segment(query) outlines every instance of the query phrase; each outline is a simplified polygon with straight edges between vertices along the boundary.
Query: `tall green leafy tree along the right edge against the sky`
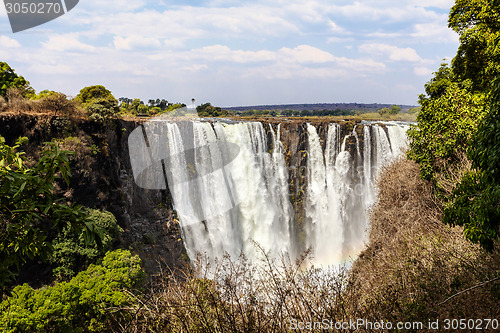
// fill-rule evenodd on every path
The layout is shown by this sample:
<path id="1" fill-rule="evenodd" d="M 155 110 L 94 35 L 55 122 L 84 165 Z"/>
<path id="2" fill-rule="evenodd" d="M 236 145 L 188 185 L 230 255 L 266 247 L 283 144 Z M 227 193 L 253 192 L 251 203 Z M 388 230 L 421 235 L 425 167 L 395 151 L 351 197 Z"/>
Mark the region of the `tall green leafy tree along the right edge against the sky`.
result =
<path id="1" fill-rule="evenodd" d="M 419 97 L 408 156 L 446 200 L 443 221 L 491 250 L 500 236 L 500 1 L 457 0 L 460 36 Z"/>

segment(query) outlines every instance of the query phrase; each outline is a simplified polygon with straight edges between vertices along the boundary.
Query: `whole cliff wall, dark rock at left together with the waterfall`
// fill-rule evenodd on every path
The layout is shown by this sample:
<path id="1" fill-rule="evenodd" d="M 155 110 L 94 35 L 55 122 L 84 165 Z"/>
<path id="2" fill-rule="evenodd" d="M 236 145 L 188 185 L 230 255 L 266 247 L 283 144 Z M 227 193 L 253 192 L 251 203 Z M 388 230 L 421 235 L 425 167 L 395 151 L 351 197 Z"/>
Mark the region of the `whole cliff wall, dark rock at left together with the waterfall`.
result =
<path id="1" fill-rule="evenodd" d="M 366 240 L 375 179 L 401 154 L 408 129 L 408 123 L 327 118 L 136 119 L 109 126 L 4 116 L 0 124 L 10 144 L 20 136 L 34 149 L 45 141 L 74 142 L 66 148 L 76 150 L 72 199 L 112 212 L 125 230 L 120 246 L 136 251 L 149 273 L 159 263 L 182 265 L 197 252 L 253 259 L 253 241 L 273 257 L 293 258 L 312 247 L 317 265 L 354 259 Z M 151 157 L 164 157 L 142 176 L 134 170 L 134 149 L 148 150 L 129 145 L 137 130 L 156 149 Z M 141 177 L 154 170 L 160 183 L 145 184 L 151 177 Z"/>

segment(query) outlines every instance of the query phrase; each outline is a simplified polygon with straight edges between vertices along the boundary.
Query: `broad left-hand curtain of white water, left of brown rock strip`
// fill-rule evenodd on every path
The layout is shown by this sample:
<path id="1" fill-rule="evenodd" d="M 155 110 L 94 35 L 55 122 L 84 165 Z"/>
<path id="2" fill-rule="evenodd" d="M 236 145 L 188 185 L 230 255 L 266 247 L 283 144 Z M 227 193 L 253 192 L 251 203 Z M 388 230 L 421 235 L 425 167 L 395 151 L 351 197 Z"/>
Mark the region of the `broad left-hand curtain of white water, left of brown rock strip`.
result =
<path id="1" fill-rule="evenodd" d="M 188 255 L 195 258 L 197 253 L 203 253 L 213 259 L 227 252 L 233 259 L 241 253 L 253 259 L 256 248 L 252 241 L 274 256 L 290 253 L 292 208 L 281 142 L 273 136 L 270 154 L 261 123 L 192 125 L 194 148 L 209 148 L 195 149 L 192 165 L 182 157 L 169 165 L 177 179 L 188 179 L 182 173 L 188 173 L 190 168 L 203 175 L 189 182 L 176 182 L 171 189 Z M 183 138 L 176 123 L 166 126 L 171 153 L 181 152 L 183 140 L 189 138 Z M 239 154 L 220 168 L 227 153 L 220 143 L 225 141 L 236 144 Z"/>

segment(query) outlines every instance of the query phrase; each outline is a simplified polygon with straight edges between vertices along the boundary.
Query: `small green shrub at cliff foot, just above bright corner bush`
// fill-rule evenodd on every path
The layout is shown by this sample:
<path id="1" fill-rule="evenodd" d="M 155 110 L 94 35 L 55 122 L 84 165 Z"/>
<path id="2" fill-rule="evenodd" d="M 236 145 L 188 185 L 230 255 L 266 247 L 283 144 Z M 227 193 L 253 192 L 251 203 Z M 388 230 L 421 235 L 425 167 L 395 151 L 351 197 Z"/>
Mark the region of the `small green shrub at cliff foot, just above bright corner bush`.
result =
<path id="1" fill-rule="evenodd" d="M 59 279 L 72 277 L 104 253 L 111 250 L 113 241 L 123 232 L 116 218 L 108 211 L 86 209 L 87 220 L 101 232 L 102 244 L 86 243 L 83 235 L 75 235 L 70 228 L 65 228 L 52 242 L 53 251 L 49 261 L 56 264 L 54 275 Z"/>

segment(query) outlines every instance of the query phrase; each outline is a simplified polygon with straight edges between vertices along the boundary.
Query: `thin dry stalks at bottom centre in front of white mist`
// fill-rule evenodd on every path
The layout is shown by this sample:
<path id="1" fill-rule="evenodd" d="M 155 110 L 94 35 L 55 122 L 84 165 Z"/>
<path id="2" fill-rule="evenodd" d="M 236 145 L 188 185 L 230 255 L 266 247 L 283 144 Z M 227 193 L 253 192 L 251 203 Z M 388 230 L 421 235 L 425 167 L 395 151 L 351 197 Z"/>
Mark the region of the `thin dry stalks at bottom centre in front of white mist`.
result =
<path id="1" fill-rule="evenodd" d="M 135 320 L 123 329 L 290 332 L 293 321 L 346 320 L 346 272 L 303 271 L 307 258 L 273 261 L 262 251 L 256 264 L 224 258 L 212 267 L 199 259 L 194 270 L 163 274 L 150 296 L 139 298 Z"/>

